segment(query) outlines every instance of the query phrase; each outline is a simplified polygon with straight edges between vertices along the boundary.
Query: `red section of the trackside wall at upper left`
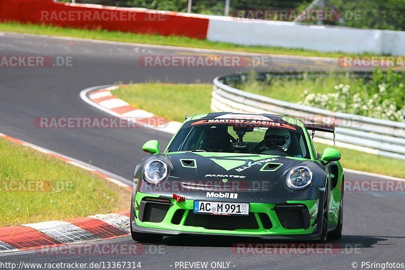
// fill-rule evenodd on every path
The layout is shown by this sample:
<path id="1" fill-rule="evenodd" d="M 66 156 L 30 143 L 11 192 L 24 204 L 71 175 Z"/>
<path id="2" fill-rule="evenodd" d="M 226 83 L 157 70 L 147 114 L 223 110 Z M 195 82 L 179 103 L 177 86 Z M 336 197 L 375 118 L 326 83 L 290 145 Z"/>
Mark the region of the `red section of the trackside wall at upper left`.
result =
<path id="1" fill-rule="evenodd" d="M 52 0 L 0 0 L 0 20 L 199 39 L 207 37 L 209 21 L 177 12 L 55 3 Z"/>

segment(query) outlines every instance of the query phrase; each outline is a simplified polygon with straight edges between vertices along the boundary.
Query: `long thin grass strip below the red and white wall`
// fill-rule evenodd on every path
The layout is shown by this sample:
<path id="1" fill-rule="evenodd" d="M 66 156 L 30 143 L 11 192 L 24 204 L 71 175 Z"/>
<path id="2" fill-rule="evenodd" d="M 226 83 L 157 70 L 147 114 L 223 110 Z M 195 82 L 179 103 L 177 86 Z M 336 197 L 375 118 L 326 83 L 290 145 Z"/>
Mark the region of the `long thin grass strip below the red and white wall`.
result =
<path id="1" fill-rule="evenodd" d="M 80 38 L 91 38 L 94 40 L 168 45 L 178 47 L 190 47 L 200 49 L 227 50 L 236 52 L 265 53 L 265 54 L 284 54 L 300 56 L 323 56 L 340 57 L 343 53 L 325 53 L 316 51 L 307 51 L 302 49 L 286 49 L 265 46 L 239 46 L 229 43 L 210 42 L 207 40 L 197 40 L 184 36 L 161 36 L 150 34 L 136 34 L 118 31 L 106 31 L 101 29 L 73 29 L 39 24 L 21 24 L 16 22 L 1 22 L 0 31 L 11 31 L 30 34 L 45 34 L 71 36 Z"/>

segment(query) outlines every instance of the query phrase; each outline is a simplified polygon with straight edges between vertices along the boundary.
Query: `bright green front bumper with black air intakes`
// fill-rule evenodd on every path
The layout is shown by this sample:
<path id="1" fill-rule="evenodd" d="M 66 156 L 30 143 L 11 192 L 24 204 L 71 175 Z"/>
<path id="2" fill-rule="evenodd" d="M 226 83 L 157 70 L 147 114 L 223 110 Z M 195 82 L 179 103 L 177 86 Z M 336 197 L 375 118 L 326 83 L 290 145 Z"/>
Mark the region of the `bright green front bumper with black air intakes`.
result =
<path id="1" fill-rule="evenodd" d="M 193 200 L 177 203 L 171 198 L 138 191 L 131 209 L 131 225 L 134 233 L 167 236 L 193 234 L 312 240 L 320 236 L 319 202 L 321 200 L 316 199 L 285 204 L 250 203 L 249 217 L 207 216 L 193 214 Z M 151 211 L 154 212 L 151 214 Z"/>

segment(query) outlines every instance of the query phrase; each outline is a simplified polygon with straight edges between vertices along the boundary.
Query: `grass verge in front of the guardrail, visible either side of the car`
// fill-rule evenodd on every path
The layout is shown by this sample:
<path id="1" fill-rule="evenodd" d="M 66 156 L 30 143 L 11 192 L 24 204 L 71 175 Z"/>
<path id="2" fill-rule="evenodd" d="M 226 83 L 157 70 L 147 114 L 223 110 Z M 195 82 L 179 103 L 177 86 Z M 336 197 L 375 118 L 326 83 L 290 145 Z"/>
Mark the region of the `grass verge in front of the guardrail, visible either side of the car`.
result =
<path id="1" fill-rule="evenodd" d="M 176 85 L 146 83 L 121 87 L 113 94 L 135 107 L 154 114 L 183 122 L 184 115 L 210 112 L 211 85 Z M 151 98 L 153 97 L 153 98 Z M 315 143 L 322 152 L 330 145 Z M 335 147 L 342 153 L 342 165 L 347 169 L 384 174 L 405 178 L 403 161 L 363 153 L 356 150 Z"/>

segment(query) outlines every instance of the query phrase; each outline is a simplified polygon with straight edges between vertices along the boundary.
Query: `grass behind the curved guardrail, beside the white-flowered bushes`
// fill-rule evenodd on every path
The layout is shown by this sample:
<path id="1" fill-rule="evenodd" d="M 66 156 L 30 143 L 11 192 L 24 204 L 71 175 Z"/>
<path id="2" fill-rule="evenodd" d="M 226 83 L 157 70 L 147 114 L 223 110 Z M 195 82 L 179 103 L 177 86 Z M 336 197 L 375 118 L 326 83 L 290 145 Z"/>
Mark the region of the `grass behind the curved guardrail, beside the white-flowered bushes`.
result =
<path id="1" fill-rule="evenodd" d="M 246 92 L 297 103 L 302 101 L 304 91 L 311 93 L 334 93 L 335 86 L 339 84 L 357 85 L 358 79 L 347 78 L 346 76 L 320 76 L 313 79 L 287 80 L 274 78 L 270 84 L 250 80 L 246 84 L 238 85 L 236 88 Z"/>

